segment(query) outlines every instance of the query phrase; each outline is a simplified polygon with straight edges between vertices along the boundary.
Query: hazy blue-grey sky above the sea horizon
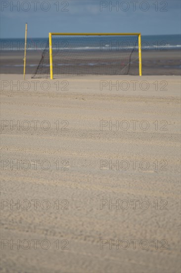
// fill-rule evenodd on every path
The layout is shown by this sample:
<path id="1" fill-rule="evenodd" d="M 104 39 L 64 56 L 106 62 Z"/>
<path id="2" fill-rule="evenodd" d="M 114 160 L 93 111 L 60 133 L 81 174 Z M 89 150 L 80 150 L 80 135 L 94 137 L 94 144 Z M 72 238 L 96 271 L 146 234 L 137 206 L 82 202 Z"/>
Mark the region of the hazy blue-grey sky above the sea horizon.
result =
<path id="1" fill-rule="evenodd" d="M 0 38 L 49 32 L 181 33 L 180 0 L 0 0 Z"/>

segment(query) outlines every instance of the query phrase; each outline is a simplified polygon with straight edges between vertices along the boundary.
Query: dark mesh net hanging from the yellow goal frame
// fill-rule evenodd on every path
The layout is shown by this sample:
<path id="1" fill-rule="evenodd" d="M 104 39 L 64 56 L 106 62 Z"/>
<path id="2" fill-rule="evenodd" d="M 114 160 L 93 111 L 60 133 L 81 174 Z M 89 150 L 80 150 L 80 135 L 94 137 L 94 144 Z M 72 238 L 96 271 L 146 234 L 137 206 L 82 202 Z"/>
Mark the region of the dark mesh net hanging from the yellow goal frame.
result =
<path id="1" fill-rule="evenodd" d="M 32 78 L 61 75 L 141 75 L 140 34 L 50 33 Z"/>

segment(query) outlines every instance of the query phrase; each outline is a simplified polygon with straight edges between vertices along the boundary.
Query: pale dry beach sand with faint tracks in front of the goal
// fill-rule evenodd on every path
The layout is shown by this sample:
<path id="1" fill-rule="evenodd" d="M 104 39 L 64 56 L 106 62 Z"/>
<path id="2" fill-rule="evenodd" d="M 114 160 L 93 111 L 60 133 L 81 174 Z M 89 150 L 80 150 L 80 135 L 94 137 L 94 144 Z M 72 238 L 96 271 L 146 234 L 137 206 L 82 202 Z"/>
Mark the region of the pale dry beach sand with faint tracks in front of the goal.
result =
<path id="1" fill-rule="evenodd" d="M 6 125 L 1 128 L 1 163 L 8 164 L 1 165 L 1 240 L 6 240 L 1 241 L 1 272 L 179 273 L 180 77 L 64 76 L 48 81 L 49 90 L 43 90 L 43 79 L 35 90 L 35 80 L 27 78 L 30 88 L 22 75 L 1 75 L 1 84 L 8 85 L 1 87 L 1 122 Z M 100 90 L 100 80 L 123 85 Z M 126 89 L 123 80 L 130 84 L 128 90 L 121 90 Z M 145 91 L 144 84 L 149 86 Z M 68 90 L 60 90 L 65 85 Z M 48 123 L 42 123 L 45 120 Z M 118 121 L 119 128 L 100 130 L 102 120 L 105 125 Z M 18 121 L 19 128 L 10 126 Z M 17 160 L 24 164 L 13 166 Z M 102 170 L 100 160 L 106 164 Z M 124 164 L 130 167 L 109 170 L 109 160 L 127 160 Z M 147 169 L 142 160 L 149 163 Z M 30 169 L 25 170 L 28 163 Z M 37 209 L 32 200 L 39 200 Z M 120 205 L 100 209 L 100 200 L 118 200 Z M 131 200 L 138 200 L 135 209 Z M 20 208 L 10 207 L 12 202 L 20 202 Z M 34 239 L 39 240 L 37 249 Z M 102 239 L 105 245 L 100 249 Z M 110 240 L 123 239 L 127 241 L 119 249 L 109 249 Z M 68 249 L 61 249 L 67 242 Z"/>

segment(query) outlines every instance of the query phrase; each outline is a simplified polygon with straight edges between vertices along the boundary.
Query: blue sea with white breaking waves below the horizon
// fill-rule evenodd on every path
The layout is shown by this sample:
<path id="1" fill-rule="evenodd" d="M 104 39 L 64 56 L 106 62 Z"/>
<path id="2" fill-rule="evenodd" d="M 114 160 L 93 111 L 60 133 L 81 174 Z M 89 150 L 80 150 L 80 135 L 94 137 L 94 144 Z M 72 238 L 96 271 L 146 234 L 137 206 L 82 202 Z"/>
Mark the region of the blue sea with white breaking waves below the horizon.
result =
<path id="1" fill-rule="evenodd" d="M 132 50 L 137 48 L 137 36 L 52 36 L 55 50 Z M 48 48 L 46 38 L 27 38 L 27 51 Z M 181 35 L 142 35 L 142 51 L 168 51 L 181 49 Z M 0 51 L 24 51 L 24 38 L 0 39 Z"/>

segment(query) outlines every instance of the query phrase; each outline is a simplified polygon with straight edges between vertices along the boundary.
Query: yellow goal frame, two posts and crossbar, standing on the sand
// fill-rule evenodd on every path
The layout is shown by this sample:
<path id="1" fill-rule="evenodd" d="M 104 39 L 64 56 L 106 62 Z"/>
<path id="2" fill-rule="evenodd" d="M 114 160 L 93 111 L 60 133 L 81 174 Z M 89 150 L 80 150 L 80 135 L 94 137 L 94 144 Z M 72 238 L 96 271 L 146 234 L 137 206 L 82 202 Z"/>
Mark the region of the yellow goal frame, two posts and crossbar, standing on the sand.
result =
<path id="1" fill-rule="evenodd" d="M 52 58 L 52 35 L 63 36 L 138 36 L 138 58 L 139 58 L 139 76 L 142 76 L 142 63 L 141 63 L 141 33 L 56 33 L 49 32 L 49 66 L 50 66 L 50 79 L 53 79 L 53 58 Z"/>

